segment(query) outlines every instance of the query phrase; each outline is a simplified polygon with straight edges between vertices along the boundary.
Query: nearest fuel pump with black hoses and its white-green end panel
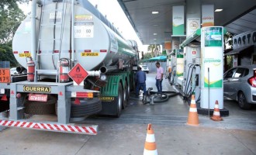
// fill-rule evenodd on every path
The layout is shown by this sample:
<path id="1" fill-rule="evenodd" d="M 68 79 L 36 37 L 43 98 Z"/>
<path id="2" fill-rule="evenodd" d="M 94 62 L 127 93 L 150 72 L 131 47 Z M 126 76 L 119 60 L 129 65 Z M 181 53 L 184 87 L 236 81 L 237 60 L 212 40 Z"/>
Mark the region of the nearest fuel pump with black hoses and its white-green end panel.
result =
<path id="1" fill-rule="evenodd" d="M 222 115 L 229 115 L 223 108 L 223 34 L 222 26 L 197 29 L 180 45 L 185 51 L 182 91 L 185 98 L 195 94 L 200 102 L 198 112 L 213 112 L 216 100 Z M 178 62 L 177 62 L 178 65 Z"/>

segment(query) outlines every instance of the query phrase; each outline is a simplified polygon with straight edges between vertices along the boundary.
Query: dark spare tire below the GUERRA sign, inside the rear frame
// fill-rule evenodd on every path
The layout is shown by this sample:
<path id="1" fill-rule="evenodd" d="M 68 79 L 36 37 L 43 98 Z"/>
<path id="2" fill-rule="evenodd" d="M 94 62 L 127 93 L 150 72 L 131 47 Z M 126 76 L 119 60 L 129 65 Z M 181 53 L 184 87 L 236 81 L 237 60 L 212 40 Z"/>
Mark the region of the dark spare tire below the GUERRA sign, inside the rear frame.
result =
<path id="1" fill-rule="evenodd" d="M 29 115 L 55 114 L 55 103 L 57 98 L 49 96 L 47 102 L 34 102 L 24 99 L 25 113 Z"/>

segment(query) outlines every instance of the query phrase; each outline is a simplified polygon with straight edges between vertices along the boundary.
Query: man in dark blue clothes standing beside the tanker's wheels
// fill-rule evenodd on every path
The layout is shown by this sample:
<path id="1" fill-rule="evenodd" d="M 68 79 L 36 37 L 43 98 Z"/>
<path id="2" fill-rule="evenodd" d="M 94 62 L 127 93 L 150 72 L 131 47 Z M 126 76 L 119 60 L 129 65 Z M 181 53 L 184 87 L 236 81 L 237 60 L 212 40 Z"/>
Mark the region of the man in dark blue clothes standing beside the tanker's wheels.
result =
<path id="1" fill-rule="evenodd" d="M 141 71 L 141 67 L 138 67 L 138 71 L 135 75 L 135 81 L 137 82 L 136 95 L 139 95 L 140 88 L 143 88 L 144 95 L 146 95 L 146 73 Z"/>

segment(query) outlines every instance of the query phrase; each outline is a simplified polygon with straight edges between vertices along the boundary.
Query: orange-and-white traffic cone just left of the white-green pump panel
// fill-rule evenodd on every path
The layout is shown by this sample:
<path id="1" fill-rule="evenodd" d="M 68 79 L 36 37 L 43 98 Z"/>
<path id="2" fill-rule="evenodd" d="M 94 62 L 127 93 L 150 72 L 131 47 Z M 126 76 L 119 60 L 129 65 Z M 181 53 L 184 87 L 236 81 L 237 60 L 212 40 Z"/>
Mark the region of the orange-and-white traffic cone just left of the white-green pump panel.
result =
<path id="1" fill-rule="evenodd" d="M 190 126 L 198 126 L 199 125 L 199 115 L 197 113 L 194 95 L 192 95 L 192 97 L 191 97 L 191 104 L 190 104 L 190 108 L 189 108 L 189 117 L 188 117 L 187 125 L 190 125 Z"/>

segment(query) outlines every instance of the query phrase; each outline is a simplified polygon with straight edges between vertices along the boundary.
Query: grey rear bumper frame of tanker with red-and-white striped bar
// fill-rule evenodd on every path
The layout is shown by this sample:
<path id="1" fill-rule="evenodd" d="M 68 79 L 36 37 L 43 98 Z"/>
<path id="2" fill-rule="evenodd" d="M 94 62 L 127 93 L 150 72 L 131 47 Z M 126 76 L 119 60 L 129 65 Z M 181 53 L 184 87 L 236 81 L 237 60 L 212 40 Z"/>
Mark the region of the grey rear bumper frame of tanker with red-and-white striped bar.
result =
<path id="1" fill-rule="evenodd" d="M 71 123 L 71 97 L 79 98 L 78 94 L 93 93 L 95 98 L 99 97 L 99 91 L 86 90 L 83 86 L 75 86 L 73 82 L 68 83 L 50 83 L 50 82 L 28 82 L 20 81 L 15 83 L 0 83 L 1 92 L 10 92 L 9 110 L 0 112 L 0 126 L 16 127 L 22 129 L 38 129 L 61 133 L 79 133 L 88 135 L 97 135 L 98 125 L 74 124 Z M 34 88 L 34 89 L 33 89 Z M 36 88 L 41 88 L 35 92 Z M 25 108 L 23 100 L 28 93 L 44 93 L 57 95 L 57 121 L 38 121 L 33 117 L 25 119 Z M 4 90 L 4 91 L 2 91 Z M 1 98 L 0 98 L 1 99 Z M 42 103 L 43 104 L 43 103 Z M 5 116 L 5 117 L 4 117 Z M 36 115 L 35 115 L 36 116 Z M 54 117 L 56 118 L 56 117 Z M 40 120 L 42 120 L 40 118 Z M 52 119 L 51 119 L 52 120 Z M 79 122 L 80 123 L 80 122 Z M 86 122 L 85 122 L 86 123 Z"/>

